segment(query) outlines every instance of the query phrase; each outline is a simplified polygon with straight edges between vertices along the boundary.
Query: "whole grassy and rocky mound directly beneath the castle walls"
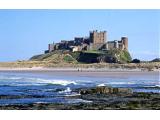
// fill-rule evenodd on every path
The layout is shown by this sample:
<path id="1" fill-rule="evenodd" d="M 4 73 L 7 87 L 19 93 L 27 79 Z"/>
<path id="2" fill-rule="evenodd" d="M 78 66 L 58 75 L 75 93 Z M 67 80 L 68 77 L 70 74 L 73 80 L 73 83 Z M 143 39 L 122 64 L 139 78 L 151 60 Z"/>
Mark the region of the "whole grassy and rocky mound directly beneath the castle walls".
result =
<path id="1" fill-rule="evenodd" d="M 48 54 L 33 56 L 30 60 L 53 61 L 53 62 L 83 62 L 83 63 L 127 63 L 132 60 L 126 50 L 108 50 L 108 51 L 82 51 L 66 52 L 55 51 Z"/>

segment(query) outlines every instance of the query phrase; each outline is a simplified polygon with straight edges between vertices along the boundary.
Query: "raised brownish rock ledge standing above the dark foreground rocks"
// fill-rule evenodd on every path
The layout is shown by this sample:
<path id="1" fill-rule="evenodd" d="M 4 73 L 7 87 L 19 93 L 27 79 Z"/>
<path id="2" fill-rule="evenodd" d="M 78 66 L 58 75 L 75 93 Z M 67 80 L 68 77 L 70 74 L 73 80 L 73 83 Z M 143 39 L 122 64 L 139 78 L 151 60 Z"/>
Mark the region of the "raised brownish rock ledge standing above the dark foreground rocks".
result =
<path id="1" fill-rule="evenodd" d="M 84 94 L 131 94 L 133 93 L 133 91 L 130 88 L 112 88 L 107 86 L 100 86 L 96 88 L 81 89 L 79 93 L 81 95 L 84 95 Z"/>

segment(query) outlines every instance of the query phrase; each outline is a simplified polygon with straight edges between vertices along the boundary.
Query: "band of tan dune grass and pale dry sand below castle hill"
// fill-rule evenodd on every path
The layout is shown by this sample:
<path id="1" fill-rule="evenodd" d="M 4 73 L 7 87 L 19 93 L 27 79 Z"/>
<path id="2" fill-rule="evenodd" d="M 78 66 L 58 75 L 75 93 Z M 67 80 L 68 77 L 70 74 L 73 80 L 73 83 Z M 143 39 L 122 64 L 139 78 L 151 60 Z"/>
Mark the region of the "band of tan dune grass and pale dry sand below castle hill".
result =
<path id="1" fill-rule="evenodd" d="M 160 71 L 160 62 L 150 63 L 53 63 L 52 61 L 0 62 L 0 71 L 84 71 L 84 72 L 140 72 Z"/>

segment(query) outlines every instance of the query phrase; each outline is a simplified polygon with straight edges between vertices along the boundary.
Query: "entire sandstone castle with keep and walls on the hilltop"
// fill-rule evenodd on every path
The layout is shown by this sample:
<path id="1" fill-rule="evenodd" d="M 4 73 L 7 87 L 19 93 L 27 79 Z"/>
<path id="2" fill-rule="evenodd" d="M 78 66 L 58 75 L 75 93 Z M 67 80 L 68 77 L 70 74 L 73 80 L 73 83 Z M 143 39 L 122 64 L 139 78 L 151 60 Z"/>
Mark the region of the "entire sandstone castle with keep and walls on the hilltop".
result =
<path id="1" fill-rule="evenodd" d="M 54 50 L 112 50 L 121 49 L 128 50 L 128 38 L 122 37 L 121 40 L 108 41 L 106 31 L 90 31 L 89 37 L 75 37 L 74 40 L 61 40 L 60 43 L 52 43 L 48 45 L 48 50 L 45 53 L 53 52 Z"/>

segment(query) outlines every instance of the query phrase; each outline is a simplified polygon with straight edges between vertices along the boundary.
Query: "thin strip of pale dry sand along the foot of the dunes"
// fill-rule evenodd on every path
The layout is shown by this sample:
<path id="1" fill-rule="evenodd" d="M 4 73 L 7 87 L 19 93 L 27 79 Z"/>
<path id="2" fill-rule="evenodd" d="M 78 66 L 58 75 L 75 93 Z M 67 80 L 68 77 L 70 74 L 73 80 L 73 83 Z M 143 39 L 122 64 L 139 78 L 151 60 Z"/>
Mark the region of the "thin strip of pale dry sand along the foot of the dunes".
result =
<path id="1" fill-rule="evenodd" d="M 75 67 L 24 67 L 24 68 L 12 68 L 12 67 L 0 67 L 0 72 L 3 71 L 48 71 L 48 72 L 160 72 L 159 69 L 152 71 L 144 70 L 141 68 L 129 69 L 129 68 L 75 68 Z"/>

